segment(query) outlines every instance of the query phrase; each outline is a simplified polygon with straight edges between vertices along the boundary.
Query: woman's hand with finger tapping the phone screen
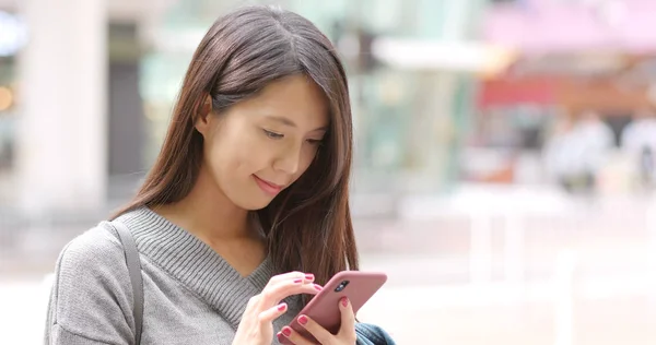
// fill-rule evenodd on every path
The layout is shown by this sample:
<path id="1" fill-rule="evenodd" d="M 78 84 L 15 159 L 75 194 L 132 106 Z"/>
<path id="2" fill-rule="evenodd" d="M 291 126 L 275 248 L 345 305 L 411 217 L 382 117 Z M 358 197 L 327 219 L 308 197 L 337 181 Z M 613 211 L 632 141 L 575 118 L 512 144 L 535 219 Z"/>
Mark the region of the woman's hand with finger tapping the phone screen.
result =
<path id="1" fill-rule="evenodd" d="M 288 306 L 280 302 L 284 298 L 298 295 L 316 295 L 321 290 L 314 282 L 314 275 L 291 272 L 271 277 L 259 295 L 250 298 L 233 345 L 269 345 L 273 340 L 273 320 L 285 313 Z"/>

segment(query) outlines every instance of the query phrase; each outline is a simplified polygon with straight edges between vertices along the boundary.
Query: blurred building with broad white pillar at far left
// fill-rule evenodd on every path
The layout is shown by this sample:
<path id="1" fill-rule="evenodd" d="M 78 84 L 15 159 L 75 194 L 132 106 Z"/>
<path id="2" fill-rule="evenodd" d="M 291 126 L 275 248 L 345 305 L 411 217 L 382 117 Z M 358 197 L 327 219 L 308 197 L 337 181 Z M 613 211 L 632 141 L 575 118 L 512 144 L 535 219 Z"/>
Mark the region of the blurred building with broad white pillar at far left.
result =
<path id="1" fill-rule="evenodd" d="M 140 66 L 169 2 L 0 0 L 0 205 L 95 210 L 143 172 Z"/>

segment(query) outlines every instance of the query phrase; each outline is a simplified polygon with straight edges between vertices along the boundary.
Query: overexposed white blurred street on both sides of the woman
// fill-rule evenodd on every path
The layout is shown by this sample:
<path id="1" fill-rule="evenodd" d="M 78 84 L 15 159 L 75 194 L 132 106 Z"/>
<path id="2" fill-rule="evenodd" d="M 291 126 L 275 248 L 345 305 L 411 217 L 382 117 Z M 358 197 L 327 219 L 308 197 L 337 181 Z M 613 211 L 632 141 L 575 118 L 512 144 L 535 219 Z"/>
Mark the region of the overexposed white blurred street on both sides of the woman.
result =
<path id="1" fill-rule="evenodd" d="M 472 247 L 471 218 L 465 215 L 358 218 L 362 270 L 389 275 L 359 317 L 389 330 L 399 344 L 653 344 L 656 276 L 646 206 L 618 202 L 611 206 L 616 212 L 598 209 L 597 217 L 586 219 L 572 211 L 549 219 L 527 216 L 519 255 L 508 253 L 503 217 L 491 222 L 482 253 Z M 4 265 L 21 274 L 2 272 L 19 278 L 0 285 L 0 324 L 12 324 L 1 344 L 38 342 L 48 293 L 44 279 L 71 236 L 50 236 L 58 245 L 50 242 L 51 255 L 38 255 L 39 262 Z M 14 258 L 34 257 L 14 252 Z M 517 260 L 523 264 L 513 269 Z"/>

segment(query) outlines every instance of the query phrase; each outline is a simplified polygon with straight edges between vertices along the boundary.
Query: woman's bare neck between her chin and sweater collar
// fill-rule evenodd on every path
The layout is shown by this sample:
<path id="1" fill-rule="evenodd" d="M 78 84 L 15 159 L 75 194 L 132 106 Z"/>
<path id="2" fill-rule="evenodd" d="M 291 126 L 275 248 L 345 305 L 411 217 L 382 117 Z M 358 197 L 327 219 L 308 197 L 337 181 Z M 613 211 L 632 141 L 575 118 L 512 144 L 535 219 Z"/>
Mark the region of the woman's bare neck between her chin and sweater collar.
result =
<path id="1" fill-rule="evenodd" d="M 230 201 L 204 167 L 187 197 L 153 211 L 210 243 L 254 235 L 248 211 Z"/>

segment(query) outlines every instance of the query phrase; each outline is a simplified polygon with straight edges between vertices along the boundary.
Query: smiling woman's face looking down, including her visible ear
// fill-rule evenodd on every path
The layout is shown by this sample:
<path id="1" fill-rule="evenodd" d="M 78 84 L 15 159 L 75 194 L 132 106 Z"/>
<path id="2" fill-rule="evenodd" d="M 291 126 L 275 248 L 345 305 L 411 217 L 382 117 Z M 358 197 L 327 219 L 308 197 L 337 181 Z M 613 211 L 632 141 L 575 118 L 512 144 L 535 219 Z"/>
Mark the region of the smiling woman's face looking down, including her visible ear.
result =
<path id="1" fill-rule="evenodd" d="M 273 82 L 256 97 L 209 115 L 201 174 L 236 206 L 266 207 L 305 172 L 328 130 L 328 103 L 307 76 Z"/>

